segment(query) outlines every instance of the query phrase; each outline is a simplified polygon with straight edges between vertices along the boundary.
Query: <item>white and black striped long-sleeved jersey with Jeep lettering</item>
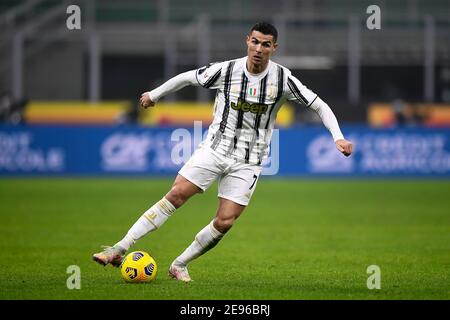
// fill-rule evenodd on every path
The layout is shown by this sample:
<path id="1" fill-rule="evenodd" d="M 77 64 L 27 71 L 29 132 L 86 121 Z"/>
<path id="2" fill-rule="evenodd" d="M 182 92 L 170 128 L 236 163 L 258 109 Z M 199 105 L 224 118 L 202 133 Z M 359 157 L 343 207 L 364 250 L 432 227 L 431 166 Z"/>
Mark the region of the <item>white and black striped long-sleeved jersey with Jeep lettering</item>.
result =
<path id="1" fill-rule="evenodd" d="M 214 119 L 202 144 L 246 163 L 261 164 L 268 155 L 275 119 L 286 99 L 312 107 L 333 138 L 343 138 L 328 106 L 289 69 L 269 61 L 262 73 L 254 75 L 248 72 L 246 61 L 243 57 L 186 72 L 151 91 L 150 97 L 157 101 L 189 84 L 217 90 Z"/>

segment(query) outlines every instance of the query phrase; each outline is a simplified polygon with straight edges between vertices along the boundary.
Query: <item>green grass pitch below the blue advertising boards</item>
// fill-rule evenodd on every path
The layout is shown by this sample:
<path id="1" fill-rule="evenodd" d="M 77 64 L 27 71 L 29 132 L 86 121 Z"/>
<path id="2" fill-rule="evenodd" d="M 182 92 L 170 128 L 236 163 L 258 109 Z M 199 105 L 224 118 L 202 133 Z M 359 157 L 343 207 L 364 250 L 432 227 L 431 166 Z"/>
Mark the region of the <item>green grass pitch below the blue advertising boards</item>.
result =
<path id="1" fill-rule="evenodd" d="M 216 248 L 170 262 L 214 216 L 217 186 L 192 198 L 132 249 L 156 281 L 127 284 L 91 260 L 170 188 L 172 179 L 1 179 L 0 299 L 449 299 L 450 182 L 263 178 Z M 81 270 L 69 290 L 66 269 Z M 381 289 L 367 288 L 367 267 Z"/>

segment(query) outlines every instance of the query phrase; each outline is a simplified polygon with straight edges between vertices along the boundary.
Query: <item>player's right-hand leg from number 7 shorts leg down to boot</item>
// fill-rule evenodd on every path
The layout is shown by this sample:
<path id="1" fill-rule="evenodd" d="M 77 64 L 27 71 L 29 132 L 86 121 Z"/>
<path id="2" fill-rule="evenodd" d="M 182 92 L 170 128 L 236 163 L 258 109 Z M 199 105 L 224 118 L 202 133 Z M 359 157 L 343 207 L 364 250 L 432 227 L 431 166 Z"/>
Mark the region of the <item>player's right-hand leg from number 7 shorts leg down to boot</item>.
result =
<path id="1" fill-rule="evenodd" d="M 169 268 L 169 275 L 190 281 L 187 264 L 198 258 L 227 233 L 248 205 L 261 172 L 260 166 L 237 164 L 219 180 L 219 208 L 214 220 L 204 227 L 191 245 L 178 256 Z"/>

